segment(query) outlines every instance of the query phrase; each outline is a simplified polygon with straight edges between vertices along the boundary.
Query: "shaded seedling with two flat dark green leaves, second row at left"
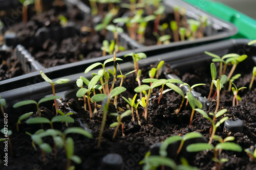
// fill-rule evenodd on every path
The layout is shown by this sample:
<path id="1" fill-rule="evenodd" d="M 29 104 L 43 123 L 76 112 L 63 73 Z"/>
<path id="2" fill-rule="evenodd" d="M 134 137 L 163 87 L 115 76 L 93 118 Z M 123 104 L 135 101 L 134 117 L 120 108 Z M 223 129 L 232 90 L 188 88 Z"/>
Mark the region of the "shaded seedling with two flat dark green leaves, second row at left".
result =
<path id="1" fill-rule="evenodd" d="M 68 123 L 74 123 L 75 120 L 72 117 L 69 116 L 55 116 L 51 120 L 49 120 L 46 117 L 33 117 L 29 118 L 26 121 L 26 124 L 50 124 L 51 129 L 53 129 L 53 123 L 55 122 L 68 122 Z"/>

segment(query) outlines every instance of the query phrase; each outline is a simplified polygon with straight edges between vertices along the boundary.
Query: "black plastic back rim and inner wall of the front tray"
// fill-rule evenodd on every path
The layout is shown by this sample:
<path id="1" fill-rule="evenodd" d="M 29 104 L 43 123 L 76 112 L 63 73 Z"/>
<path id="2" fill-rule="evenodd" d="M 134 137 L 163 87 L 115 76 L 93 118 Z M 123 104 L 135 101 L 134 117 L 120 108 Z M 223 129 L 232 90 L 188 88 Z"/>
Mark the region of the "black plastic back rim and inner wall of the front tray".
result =
<path id="1" fill-rule="evenodd" d="M 256 46 L 248 46 L 246 45 L 247 42 L 249 42 L 248 39 L 229 39 L 224 40 L 220 42 L 215 42 L 211 44 L 201 45 L 197 47 L 191 47 L 187 48 L 185 50 L 176 51 L 176 52 L 169 52 L 165 54 L 159 54 L 154 55 L 151 57 L 148 57 L 146 59 L 141 60 L 139 62 L 140 67 L 145 67 L 151 64 L 156 64 L 160 60 L 164 60 L 166 63 L 170 64 L 170 67 L 173 69 L 178 69 L 181 74 L 189 69 L 191 67 L 197 67 L 199 65 L 207 65 L 209 66 L 209 63 L 211 61 L 211 57 L 204 54 L 204 51 L 209 51 L 212 53 L 215 53 L 217 55 L 223 56 L 228 53 L 238 53 L 240 55 L 247 54 L 248 59 L 245 65 L 246 67 L 252 67 L 255 65 L 256 61 Z M 138 52 L 138 51 L 137 51 Z M 119 54 L 117 57 L 122 57 L 123 54 Z M 105 57 L 106 59 L 108 57 Z M 102 62 L 102 60 L 98 60 L 99 62 Z M 96 62 L 96 61 L 95 61 Z M 132 70 L 134 65 L 129 58 L 125 58 L 125 61 L 119 62 L 120 68 L 122 68 L 122 71 L 125 72 Z M 206 64 L 208 63 L 208 64 Z M 68 84 L 62 84 L 62 85 L 56 85 L 56 95 L 60 95 L 62 98 L 75 98 L 75 92 L 77 90 L 76 87 L 76 79 L 78 79 L 80 76 L 84 76 L 88 79 L 92 77 L 92 72 L 97 72 L 98 69 L 92 70 L 88 72 L 88 74 L 84 74 L 84 70 L 87 68 L 88 64 L 84 63 L 81 65 L 81 63 L 75 63 L 69 64 L 69 67 L 63 67 L 59 66 L 56 67 L 54 70 L 52 68 L 45 69 L 44 72 L 47 73 L 47 75 L 51 79 L 59 79 L 59 78 L 68 78 L 70 79 L 70 82 Z M 113 66 L 106 67 L 112 68 Z M 58 68 L 58 69 L 57 69 Z M 79 71 L 75 74 L 69 75 L 68 72 L 72 72 L 72 70 L 78 69 Z M 60 74 L 61 72 L 61 74 Z M 24 75 L 24 78 L 27 75 Z M 15 78 L 13 78 L 15 79 Z M 10 87 L 9 84 L 1 84 L 0 82 L 0 89 L 1 89 L 1 95 L 4 99 L 7 101 L 6 110 L 12 111 L 12 105 L 15 102 L 22 101 L 22 100 L 39 100 L 42 97 L 46 95 L 51 95 L 52 90 L 47 82 L 43 82 L 41 79 L 41 76 L 39 75 L 39 72 L 34 72 L 33 77 L 30 77 L 32 79 L 32 82 L 27 82 L 27 86 L 23 87 Z M 23 81 L 21 84 L 24 84 L 28 79 L 24 80 L 17 80 L 14 82 L 15 84 L 20 84 L 20 81 Z M 54 81 L 54 80 L 53 80 Z M 9 86 L 9 90 L 3 90 L 6 88 L 6 86 Z M 3 88 L 4 87 L 4 88 Z"/>

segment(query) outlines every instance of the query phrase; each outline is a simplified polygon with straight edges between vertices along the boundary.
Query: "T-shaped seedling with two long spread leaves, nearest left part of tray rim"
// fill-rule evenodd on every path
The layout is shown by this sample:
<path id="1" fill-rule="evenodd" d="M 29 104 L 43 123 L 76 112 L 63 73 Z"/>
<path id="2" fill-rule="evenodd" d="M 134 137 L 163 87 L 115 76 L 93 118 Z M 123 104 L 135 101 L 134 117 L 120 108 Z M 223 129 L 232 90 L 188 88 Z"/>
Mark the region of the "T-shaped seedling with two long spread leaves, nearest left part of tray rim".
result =
<path id="1" fill-rule="evenodd" d="M 59 98 L 60 98 L 59 96 L 48 96 L 48 97 L 40 99 L 38 101 L 38 103 L 36 101 L 34 101 L 34 100 L 27 100 L 27 101 L 18 102 L 16 104 L 14 104 L 13 107 L 17 108 L 17 107 L 24 106 L 24 105 L 35 104 L 38 116 L 41 117 L 41 114 L 40 114 L 40 111 L 39 111 L 39 105 L 41 103 L 44 103 L 44 102 L 47 102 L 47 101 L 51 101 L 51 100 L 54 100 L 54 99 L 59 99 Z"/>

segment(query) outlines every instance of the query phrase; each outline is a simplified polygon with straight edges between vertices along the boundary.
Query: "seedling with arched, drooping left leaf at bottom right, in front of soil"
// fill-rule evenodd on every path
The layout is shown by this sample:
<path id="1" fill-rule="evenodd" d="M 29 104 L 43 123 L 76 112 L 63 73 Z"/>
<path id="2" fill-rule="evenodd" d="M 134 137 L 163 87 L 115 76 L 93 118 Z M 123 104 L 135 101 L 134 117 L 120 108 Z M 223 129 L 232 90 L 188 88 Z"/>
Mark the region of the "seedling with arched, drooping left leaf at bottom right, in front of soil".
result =
<path id="1" fill-rule="evenodd" d="M 181 141 L 180 146 L 176 152 L 176 155 L 178 155 L 186 140 L 192 139 L 192 138 L 198 138 L 198 137 L 203 137 L 203 136 L 198 132 L 190 132 L 190 133 L 185 134 L 184 136 L 170 136 L 167 139 L 165 139 L 164 142 L 161 144 L 160 149 L 159 149 L 159 154 L 162 157 L 166 157 L 167 156 L 166 149 L 167 149 L 168 145 L 171 143 L 174 143 L 176 141 Z"/>

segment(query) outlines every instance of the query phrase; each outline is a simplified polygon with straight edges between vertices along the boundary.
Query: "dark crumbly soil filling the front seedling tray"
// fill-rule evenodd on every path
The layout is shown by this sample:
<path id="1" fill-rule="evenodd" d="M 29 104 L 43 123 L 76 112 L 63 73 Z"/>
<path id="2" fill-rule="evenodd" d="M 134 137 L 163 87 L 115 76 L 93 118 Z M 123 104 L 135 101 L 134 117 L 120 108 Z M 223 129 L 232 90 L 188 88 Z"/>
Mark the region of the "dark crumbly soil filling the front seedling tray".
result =
<path id="1" fill-rule="evenodd" d="M 228 67 L 228 70 L 230 67 Z M 228 71 L 227 70 L 227 71 Z M 238 70 L 235 72 L 243 70 L 243 67 L 238 67 Z M 252 70 L 252 68 L 251 68 Z M 177 72 L 177 70 L 169 70 L 169 72 Z M 142 72 L 147 72 L 143 70 Z M 246 86 L 250 82 L 252 74 L 250 71 L 241 73 L 242 76 L 234 83 L 238 87 Z M 210 84 L 209 79 L 210 72 L 208 68 L 198 68 L 193 69 L 192 71 L 186 72 L 183 75 L 179 75 L 182 81 L 187 82 L 192 85 L 195 83 L 206 83 L 205 87 L 201 86 L 196 88 L 196 91 L 201 92 L 203 96 L 208 95 L 207 89 Z M 145 74 L 142 79 L 146 78 Z M 163 75 L 162 75 L 162 78 Z M 126 102 L 122 100 L 122 96 L 127 98 L 132 98 L 135 92 L 133 89 L 138 86 L 135 80 L 135 75 L 128 76 L 123 86 L 127 90 L 119 95 L 118 106 L 124 110 L 126 108 Z M 119 85 L 119 80 L 116 85 Z M 187 108 L 183 106 L 179 114 L 174 113 L 175 110 L 179 107 L 181 103 L 181 96 L 175 92 L 167 92 L 163 94 L 160 104 L 157 104 L 158 101 L 158 90 L 156 88 L 150 99 L 150 104 L 147 108 L 148 116 L 147 120 L 142 117 L 143 108 L 139 106 L 139 115 L 141 118 L 141 126 L 137 123 L 137 118 L 135 122 L 132 122 L 132 117 L 127 116 L 123 118 L 124 123 L 124 134 L 122 136 L 121 128 L 119 129 L 116 138 L 113 140 L 112 136 L 115 131 L 115 128 L 110 128 L 110 125 L 113 122 L 116 122 L 115 116 L 107 115 L 107 120 L 105 124 L 105 129 L 102 137 L 101 147 L 97 149 L 97 137 L 99 134 L 99 129 L 102 119 L 102 110 L 97 108 L 97 113 L 93 114 L 93 117 L 90 119 L 89 111 L 84 111 L 82 105 L 79 105 L 78 102 L 74 99 L 65 99 L 62 101 L 60 109 L 65 111 L 65 108 L 70 107 L 77 114 L 71 115 L 76 119 L 75 123 L 69 124 L 69 127 L 84 127 L 87 126 L 92 130 L 93 138 L 89 139 L 87 137 L 71 134 L 74 139 L 75 145 L 75 155 L 78 155 L 82 159 L 81 164 L 74 164 L 76 169 L 107 169 L 101 167 L 102 158 L 109 153 L 120 154 L 123 158 L 122 167 L 119 169 L 142 169 L 143 165 L 139 165 L 139 161 L 144 158 L 144 155 L 147 151 L 150 151 L 152 145 L 157 142 L 164 141 L 169 136 L 174 135 L 185 135 L 188 132 L 200 132 L 207 140 L 209 139 L 209 130 L 210 122 L 203 118 L 199 113 L 196 113 L 193 118 L 192 126 L 189 127 L 189 118 L 191 114 L 191 108 L 188 105 Z M 248 89 L 241 90 L 239 95 L 242 98 L 242 101 L 237 106 L 232 106 L 233 94 L 228 92 L 225 89 L 222 89 L 221 100 L 220 100 L 220 109 L 226 108 L 228 111 L 224 116 L 238 117 L 243 121 L 244 130 L 241 133 L 228 133 L 223 132 L 223 125 L 221 125 L 216 132 L 216 135 L 222 136 L 225 138 L 227 136 L 234 136 L 235 139 L 233 142 L 238 143 L 243 150 L 249 148 L 251 145 L 256 143 L 256 130 L 255 130 L 255 121 L 256 121 L 256 89 L 253 85 L 253 90 L 250 92 Z M 211 102 L 211 106 L 207 109 L 207 113 L 214 112 L 216 108 L 216 101 Z M 100 103 L 99 103 L 100 104 Z M 93 104 L 91 105 L 93 107 Z M 47 108 L 45 108 L 47 107 Z M 52 113 L 53 107 L 52 103 L 48 103 L 45 107 L 41 107 L 42 116 L 51 118 L 54 116 Z M 87 106 L 88 107 L 88 106 Z M 18 109 L 17 109 L 18 110 Z M 26 135 L 25 132 L 34 133 L 36 130 L 40 129 L 40 125 L 31 126 L 26 125 L 23 120 L 20 124 L 20 132 L 16 132 L 16 122 L 18 116 L 28 112 L 35 111 L 35 108 L 20 107 L 19 112 L 13 114 L 9 113 L 9 129 L 13 131 L 13 134 L 10 136 L 12 145 L 13 145 L 13 156 L 8 157 L 8 166 L 4 166 L 3 162 L 1 164 L 1 169 L 65 169 L 66 166 L 66 153 L 63 149 L 57 149 L 57 158 L 54 159 L 52 154 L 47 154 L 47 161 L 42 162 L 41 152 L 37 147 L 37 151 L 34 151 L 31 145 L 31 138 L 29 135 Z M 109 113 L 116 112 L 113 104 L 109 105 Z M 119 111 L 118 113 L 122 113 Z M 36 116 L 37 113 L 34 113 L 33 116 Z M 218 121 L 220 118 L 217 118 Z M 79 121 L 81 123 L 79 123 Z M 1 122 L 1 127 L 3 127 L 3 122 Z M 50 127 L 45 125 L 45 129 Z M 58 130 L 67 129 L 66 124 L 54 124 L 54 128 Z M 53 147 L 52 139 L 45 138 L 45 142 L 49 143 Z M 216 145 L 217 141 L 213 141 L 213 144 Z M 1 142 L 1 148 L 4 148 L 3 143 Z M 174 149 L 175 150 L 175 149 Z M 176 148 L 177 150 L 177 148 Z M 1 150 L 0 154 L 2 155 L 1 160 L 3 160 L 4 151 Z M 177 163 L 180 163 L 179 157 L 186 157 L 189 164 L 192 166 L 197 166 L 200 169 L 212 169 L 215 166 L 214 162 L 211 160 L 213 157 L 213 152 L 199 152 L 194 155 L 185 155 L 181 154 L 178 157 L 172 157 Z M 256 168 L 256 163 L 250 162 L 249 157 L 244 151 L 241 153 L 222 151 L 222 154 L 219 158 L 228 158 L 229 161 L 223 164 L 222 169 L 254 169 Z"/>

